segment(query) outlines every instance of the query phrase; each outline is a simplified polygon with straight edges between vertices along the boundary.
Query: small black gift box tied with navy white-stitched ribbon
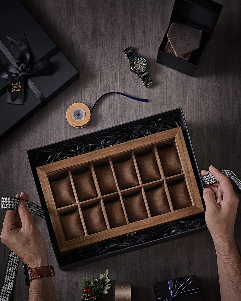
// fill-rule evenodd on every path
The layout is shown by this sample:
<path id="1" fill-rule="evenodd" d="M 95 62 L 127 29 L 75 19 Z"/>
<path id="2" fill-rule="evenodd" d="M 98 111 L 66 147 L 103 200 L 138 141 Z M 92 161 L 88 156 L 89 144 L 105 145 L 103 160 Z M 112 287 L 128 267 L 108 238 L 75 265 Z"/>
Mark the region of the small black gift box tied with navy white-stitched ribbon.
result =
<path id="1" fill-rule="evenodd" d="M 154 284 L 157 301 L 201 301 L 196 275 Z"/>

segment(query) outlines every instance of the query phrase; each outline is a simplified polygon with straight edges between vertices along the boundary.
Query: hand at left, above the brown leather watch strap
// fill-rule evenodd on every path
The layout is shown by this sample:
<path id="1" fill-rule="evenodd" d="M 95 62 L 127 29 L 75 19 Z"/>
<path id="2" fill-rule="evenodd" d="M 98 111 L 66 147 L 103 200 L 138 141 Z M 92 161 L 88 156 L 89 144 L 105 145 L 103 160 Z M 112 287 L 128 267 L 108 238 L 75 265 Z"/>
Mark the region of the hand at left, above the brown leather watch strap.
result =
<path id="1" fill-rule="evenodd" d="M 16 197 L 29 200 L 29 196 L 23 192 Z M 19 201 L 18 211 L 7 210 L 1 241 L 30 268 L 48 265 L 44 239 L 24 201 Z"/>

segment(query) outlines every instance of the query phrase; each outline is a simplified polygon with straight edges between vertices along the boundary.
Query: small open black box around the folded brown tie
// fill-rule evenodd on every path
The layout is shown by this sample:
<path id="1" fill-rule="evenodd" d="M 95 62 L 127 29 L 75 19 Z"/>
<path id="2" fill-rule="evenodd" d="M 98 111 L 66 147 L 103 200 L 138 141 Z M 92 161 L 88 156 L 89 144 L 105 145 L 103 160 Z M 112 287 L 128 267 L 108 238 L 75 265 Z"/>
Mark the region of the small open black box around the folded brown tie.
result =
<path id="1" fill-rule="evenodd" d="M 175 0 L 167 31 L 158 50 L 157 63 L 189 76 L 194 76 L 222 8 L 223 5 L 211 0 Z M 168 42 L 167 33 L 171 23 L 174 21 L 193 26 L 203 31 L 200 46 L 192 52 L 189 61 L 183 61 L 164 52 L 164 48 Z"/>

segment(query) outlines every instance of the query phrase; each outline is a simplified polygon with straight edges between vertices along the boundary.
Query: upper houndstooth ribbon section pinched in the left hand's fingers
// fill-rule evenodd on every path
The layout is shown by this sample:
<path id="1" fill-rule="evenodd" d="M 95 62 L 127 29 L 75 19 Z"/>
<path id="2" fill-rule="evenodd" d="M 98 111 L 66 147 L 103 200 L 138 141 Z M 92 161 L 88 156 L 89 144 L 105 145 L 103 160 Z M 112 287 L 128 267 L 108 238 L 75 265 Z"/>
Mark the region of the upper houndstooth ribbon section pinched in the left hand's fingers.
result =
<path id="1" fill-rule="evenodd" d="M 8 210 L 17 210 L 17 204 L 20 200 L 21 199 L 17 197 L 2 197 L 1 208 Z M 43 210 L 40 206 L 28 200 L 24 200 L 24 202 L 27 204 L 27 207 L 32 214 L 44 218 Z"/>

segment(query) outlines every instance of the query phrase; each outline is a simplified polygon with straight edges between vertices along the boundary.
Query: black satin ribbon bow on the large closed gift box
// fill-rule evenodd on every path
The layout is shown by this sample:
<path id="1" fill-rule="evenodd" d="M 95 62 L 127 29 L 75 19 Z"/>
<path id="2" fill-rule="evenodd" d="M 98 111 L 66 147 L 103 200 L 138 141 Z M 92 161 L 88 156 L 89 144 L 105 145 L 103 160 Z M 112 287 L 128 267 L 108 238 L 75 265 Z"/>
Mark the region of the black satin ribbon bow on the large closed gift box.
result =
<path id="1" fill-rule="evenodd" d="M 37 95 L 37 97 L 43 101 L 45 99 L 44 96 L 29 79 L 29 77 L 36 75 L 50 75 L 51 70 L 49 59 L 40 59 L 36 63 L 30 65 L 30 54 L 25 36 L 23 35 L 18 41 L 10 37 L 7 38 L 11 46 L 12 55 L 9 53 L 7 48 L 5 48 L 5 51 L 3 49 L 2 50 L 8 57 L 11 64 L 0 58 L 0 77 L 8 81 L 9 76 L 15 76 L 16 78 L 23 76 L 24 79 L 27 78 L 27 84 Z M 23 100 L 18 97 L 11 101 L 9 85 L 7 89 L 7 103 L 23 104 Z"/>

